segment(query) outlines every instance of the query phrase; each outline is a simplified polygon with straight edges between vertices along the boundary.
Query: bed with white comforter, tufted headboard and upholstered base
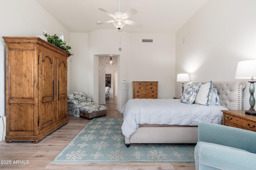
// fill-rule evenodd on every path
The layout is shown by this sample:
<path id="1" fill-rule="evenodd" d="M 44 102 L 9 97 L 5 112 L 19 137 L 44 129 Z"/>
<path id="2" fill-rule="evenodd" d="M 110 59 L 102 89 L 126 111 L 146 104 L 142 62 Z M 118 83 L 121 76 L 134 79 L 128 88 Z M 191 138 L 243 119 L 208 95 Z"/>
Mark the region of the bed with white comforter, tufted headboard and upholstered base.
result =
<path id="1" fill-rule="evenodd" d="M 243 89 L 246 86 L 244 82 L 211 83 L 212 91 L 217 91 L 219 105 L 186 104 L 178 99 L 128 100 L 121 111 L 126 147 L 131 143 L 197 143 L 199 121 L 222 124 L 221 110 L 242 110 Z M 168 115 L 166 111 L 170 114 L 178 113 L 178 117 Z M 192 112 L 195 113 L 190 115 Z M 188 117 L 188 120 L 184 117 Z"/>

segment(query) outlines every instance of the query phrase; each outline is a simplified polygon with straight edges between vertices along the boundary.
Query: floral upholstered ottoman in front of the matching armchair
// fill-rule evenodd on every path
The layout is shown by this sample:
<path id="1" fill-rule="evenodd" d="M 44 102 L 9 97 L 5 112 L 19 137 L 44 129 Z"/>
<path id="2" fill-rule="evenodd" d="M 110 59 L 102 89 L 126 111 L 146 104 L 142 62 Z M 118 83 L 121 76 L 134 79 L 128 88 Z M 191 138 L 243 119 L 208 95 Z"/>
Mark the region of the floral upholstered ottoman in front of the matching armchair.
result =
<path id="1" fill-rule="evenodd" d="M 79 109 L 80 117 L 86 117 L 92 119 L 98 116 L 106 116 L 107 107 L 103 105 L 89 105 Z"/>

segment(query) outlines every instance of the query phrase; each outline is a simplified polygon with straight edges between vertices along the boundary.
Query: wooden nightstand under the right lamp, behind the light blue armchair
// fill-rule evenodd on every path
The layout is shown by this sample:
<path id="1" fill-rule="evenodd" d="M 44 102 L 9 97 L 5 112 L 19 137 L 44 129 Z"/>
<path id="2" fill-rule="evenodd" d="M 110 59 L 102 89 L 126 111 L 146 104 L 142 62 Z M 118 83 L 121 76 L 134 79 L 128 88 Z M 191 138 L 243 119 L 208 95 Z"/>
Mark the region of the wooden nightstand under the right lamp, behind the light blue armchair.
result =
<path id="1" fill-rule="evenodd" d="M 256 116 L 246 115 L 245 110 L 222 110 L 222 125 L 256 131 Z"/>

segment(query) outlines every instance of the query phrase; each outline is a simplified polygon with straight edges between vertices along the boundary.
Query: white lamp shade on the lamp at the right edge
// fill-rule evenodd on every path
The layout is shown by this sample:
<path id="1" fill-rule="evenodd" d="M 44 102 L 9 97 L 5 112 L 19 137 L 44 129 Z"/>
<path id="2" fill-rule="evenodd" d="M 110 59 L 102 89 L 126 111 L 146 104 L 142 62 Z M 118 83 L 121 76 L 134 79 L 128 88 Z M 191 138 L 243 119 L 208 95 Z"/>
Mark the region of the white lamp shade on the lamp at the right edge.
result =
<path id="1" fill-rule="evenodd" d="M 256 78 L 256 60 L 240 61 L 237 64 L 235 78 Z"/>

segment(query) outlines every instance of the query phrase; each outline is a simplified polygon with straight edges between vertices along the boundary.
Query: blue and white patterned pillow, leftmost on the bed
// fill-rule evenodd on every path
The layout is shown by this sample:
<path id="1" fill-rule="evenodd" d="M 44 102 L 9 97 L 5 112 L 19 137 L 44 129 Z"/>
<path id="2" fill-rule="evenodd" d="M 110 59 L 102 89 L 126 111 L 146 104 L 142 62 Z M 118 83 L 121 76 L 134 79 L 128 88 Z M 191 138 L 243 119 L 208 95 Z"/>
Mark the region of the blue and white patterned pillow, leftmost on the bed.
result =
<path id="1" fill-rule="evenodd" d="M 198 93 L 200 86 L 201 83 L 188 84 L 180 98 L 180 102 L 186 104 L 193 104 L 196 100 L 196 94 Z"/>

